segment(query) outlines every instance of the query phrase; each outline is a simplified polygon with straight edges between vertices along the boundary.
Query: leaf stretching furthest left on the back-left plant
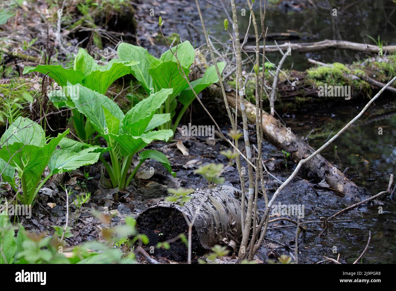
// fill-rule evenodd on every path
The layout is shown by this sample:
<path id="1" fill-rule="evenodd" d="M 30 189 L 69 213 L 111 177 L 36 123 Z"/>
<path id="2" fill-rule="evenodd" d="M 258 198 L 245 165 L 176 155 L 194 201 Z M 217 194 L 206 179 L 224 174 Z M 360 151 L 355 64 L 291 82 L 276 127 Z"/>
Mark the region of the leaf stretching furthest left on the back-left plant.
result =
<path id="1" fill-rule="evenodd" d="M 73 69 L 65 69 L 62 66 L 53 65 L 38 65 L 36 67 L 25 67 L 23 74 L 30 72 L 40 72 L 43 74 L 48 74 L 51 78 L 55 80 L 59 85 L 66 86 L 67 82 L 70 84 L 82 83 L 85 76 L 82 72 Z"/>

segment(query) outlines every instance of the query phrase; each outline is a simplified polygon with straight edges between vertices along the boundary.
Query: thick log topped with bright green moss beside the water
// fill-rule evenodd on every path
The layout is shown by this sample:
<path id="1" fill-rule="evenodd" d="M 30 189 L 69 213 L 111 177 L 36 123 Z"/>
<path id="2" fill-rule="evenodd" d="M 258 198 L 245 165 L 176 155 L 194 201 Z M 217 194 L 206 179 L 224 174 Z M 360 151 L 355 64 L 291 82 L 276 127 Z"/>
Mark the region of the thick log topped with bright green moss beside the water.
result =
<path id="1" fill-rule="evenodd" d="M 381 86 L 378 82 L 386 84 L 396 76 L 396 55 L 384 55 L 356 61 L 352 64 L 331 63 L 327 66 L 314 66 L 304 71 L 284 70 L 279 75 L 277 86 L 277 99 L 275 108 L 278 112 L 284 110 L 298 110 L 310 103 L 323 102 L 348 102 L 343 97 L 319 97 L 318 87 L 325 86 L 350 86 L 351 100 L 371 98 Z M 286 78 L 287 76 L 287 78 Z M 273 77 L 267 73 L 265 81 L 272 84 Z M 234 88 L 235 80 L 228 80 L 228 84 Z M 389 87 L 387 91 L 394 91 Z M 251 75 L 246 83 L 246 99 L 255 103 L 255 76 Z M 263 96 L 264 110 L 269 107 L 268 98 Z"/>

